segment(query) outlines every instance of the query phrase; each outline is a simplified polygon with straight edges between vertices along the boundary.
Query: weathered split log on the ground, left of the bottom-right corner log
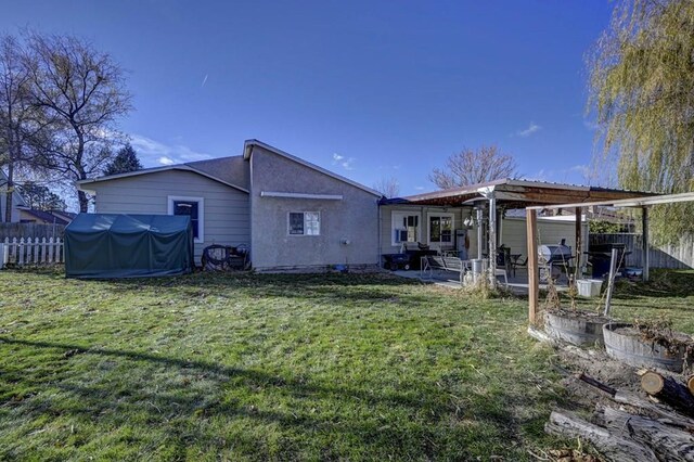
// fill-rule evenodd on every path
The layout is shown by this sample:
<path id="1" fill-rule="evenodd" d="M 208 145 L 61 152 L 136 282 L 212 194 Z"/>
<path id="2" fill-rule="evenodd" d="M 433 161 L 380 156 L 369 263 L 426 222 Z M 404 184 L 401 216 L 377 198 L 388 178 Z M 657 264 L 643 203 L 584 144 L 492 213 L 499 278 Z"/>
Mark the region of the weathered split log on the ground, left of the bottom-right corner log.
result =
<path id="1" fill-rule="evenodd" d="M 617 462 L 657 460 L 650 448 L 633 441 L 621 432 L 609 432 L 567 411 L 552 411 L 544 431 L 567 438 L 583 438 L 590 441 L 603 455 Z"/>

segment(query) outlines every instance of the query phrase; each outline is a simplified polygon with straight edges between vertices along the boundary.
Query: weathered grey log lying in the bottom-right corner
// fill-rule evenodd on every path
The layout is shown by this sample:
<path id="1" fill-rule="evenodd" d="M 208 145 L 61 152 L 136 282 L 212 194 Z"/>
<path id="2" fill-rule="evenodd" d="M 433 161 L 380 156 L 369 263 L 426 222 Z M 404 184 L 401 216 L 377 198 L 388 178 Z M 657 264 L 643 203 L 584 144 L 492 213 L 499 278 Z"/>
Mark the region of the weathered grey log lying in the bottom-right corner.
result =
<path id="1" fill-rule="evenodd" d="M 599 408 L 609 431 L 625 432 L 633 441 L 653 449 L 660 461 L 694 461 L 694 437 L 689 433 L 642 415 L 615 408 Z"/>

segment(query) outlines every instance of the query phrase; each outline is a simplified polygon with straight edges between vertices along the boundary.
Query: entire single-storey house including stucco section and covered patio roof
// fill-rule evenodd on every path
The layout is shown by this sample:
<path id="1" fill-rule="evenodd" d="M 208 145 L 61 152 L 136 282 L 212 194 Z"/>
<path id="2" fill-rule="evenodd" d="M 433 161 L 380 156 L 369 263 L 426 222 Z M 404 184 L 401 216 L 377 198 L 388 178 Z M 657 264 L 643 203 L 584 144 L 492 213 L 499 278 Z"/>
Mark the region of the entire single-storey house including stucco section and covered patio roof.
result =
<path id="1" fill-rule="evenodd" d="M 97 213 L 190 215 L 197 261 L 208 245 L 244 244 L 259 271 L 373 268 L 384 254 L 417 243 L 465 258 L 500 244 L 524 254 L 525 219 L 504 219 L 505 210 L 643 195 L 503 179 L 386 200 L 258 140 L 246 141 L 239 156 L 83 180 L 78 188 L 95 196 Z M 548 222 L 540 233 L 575 245 L 582 228 Z"/>

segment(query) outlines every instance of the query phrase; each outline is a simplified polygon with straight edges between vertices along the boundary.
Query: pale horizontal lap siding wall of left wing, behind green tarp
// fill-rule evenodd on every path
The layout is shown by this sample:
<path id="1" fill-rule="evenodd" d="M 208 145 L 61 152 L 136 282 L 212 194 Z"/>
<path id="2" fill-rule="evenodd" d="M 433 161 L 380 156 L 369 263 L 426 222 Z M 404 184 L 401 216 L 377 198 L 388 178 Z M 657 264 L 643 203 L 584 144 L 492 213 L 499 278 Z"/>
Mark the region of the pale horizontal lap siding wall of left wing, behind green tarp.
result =
<path id="1" fill-rule="evenodd" d="M 201 175 L 167 170 L 89 185 L 97 192 L 94 210 L 103 214 L 168 214 L 169 196 L 204 198 L 204 241 L 195 244 L 200 262 L 211 244 L 250 246 L 248 194 Z"/>

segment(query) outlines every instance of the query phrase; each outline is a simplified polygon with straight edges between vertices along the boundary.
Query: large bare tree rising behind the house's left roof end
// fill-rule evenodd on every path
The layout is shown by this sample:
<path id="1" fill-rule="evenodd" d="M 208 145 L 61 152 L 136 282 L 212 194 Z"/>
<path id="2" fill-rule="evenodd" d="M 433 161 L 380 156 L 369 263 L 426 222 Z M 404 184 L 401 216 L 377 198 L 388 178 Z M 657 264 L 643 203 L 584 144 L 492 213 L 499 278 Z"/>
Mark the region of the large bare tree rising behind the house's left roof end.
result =
<path id="1" fill-rule="evenodd" d="M 131 110 L 124 70 L 107 54 L 72 36 L 27 35 L 26 66 L 33 103 L 53 117 L 43 146 L 50 168 L 63 181 L 99 175 L 120 138 L 116 121 Z M 89 197 L 77 191 L 80 211 Z"/>

